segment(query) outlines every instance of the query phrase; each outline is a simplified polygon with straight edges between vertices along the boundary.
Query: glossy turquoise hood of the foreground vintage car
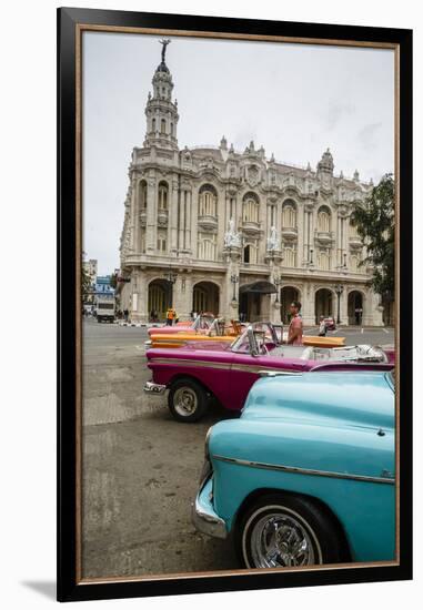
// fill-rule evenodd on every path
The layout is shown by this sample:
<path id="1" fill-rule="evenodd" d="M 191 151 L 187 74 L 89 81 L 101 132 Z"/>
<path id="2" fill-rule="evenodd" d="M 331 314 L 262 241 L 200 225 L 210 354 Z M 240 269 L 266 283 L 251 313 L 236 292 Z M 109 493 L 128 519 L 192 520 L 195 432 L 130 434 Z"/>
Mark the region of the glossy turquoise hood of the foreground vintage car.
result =
<path id="1" fill-rule="evenodd" d="M 266 377 L 251 388 L 241 417 L 392 429 L 394 393 L 387 375 L 343 372 Z"/>

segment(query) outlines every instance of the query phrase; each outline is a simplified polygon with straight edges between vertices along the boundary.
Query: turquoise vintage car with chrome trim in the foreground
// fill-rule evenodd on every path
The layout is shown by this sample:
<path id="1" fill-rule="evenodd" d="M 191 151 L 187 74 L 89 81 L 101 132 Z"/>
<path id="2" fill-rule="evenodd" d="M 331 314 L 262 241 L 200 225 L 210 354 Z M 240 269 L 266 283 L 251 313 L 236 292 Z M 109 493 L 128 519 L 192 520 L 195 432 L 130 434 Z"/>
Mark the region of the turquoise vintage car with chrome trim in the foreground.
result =
<path id="1" fill-rule="evenodd" d="M 246 568 L 393 560 L 393 372 L 268 375 L 208 433 L 197 529 Z"/>

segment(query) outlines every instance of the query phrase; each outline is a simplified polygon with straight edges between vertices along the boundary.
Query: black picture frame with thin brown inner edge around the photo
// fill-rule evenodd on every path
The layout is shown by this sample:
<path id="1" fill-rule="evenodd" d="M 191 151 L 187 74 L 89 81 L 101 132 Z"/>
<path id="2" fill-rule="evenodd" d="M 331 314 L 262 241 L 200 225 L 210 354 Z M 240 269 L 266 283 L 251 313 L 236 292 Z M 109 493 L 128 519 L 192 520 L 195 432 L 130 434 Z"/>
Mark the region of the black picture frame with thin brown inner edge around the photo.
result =
<path id="1" fill-rule="evenodd" d="M 83 583 L 77 573 L 75 502 L 80 485 L 75 411 L 79 373 L 77 296 L 80 218 L 75 215 L 77 159 L 77 28 L 79 24 L 152 28 L 319 40 L 387 42 L 397 45 L 400 182 L 399 265 L 401 317 L 399 326 L 401 462 L 399 518 L 400 553 L 395 566 L 308 569 L 290 573 L 213 575 L 137 581 Z M 236 591 L 318 584 L 407 580 L 412 578 L 412 31 L 403 29 L 276 22 L 109 10 L 58 10 L 58 600 L 77 601 L 211 591 Z"/>

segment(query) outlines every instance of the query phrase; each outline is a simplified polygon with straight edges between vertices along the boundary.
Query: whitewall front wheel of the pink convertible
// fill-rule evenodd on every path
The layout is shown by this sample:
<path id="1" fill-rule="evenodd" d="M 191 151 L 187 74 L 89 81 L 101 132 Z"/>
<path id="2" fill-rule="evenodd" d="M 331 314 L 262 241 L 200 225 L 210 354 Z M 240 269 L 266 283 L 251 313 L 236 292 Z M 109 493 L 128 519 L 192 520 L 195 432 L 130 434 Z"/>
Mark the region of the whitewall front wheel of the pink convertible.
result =
<path id="1" fill-rule="evenodd" d="M 209 396 L 194 379 L 178 379 L 170 388 L 168 406 L 178 421 L 198 421 L 208 410 Z"/>

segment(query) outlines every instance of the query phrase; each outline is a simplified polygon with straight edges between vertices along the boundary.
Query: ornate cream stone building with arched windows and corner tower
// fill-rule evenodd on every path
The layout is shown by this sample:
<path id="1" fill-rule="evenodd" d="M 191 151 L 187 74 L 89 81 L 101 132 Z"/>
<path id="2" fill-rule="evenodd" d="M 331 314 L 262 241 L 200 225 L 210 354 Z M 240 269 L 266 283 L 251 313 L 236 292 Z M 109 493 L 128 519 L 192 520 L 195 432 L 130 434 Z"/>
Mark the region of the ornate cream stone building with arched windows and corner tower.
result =
<path id="1" fill-rule="evenodd" d="M 352 205 L 372 183 L 334 175 L 331 152 L 315 170 L 266 157 L 254 142 L 234 151 L 178 146 L 178 102 L 165 63 L 154 72 L 147 133 L 132 152 L 121 235 L 120 306 L 147 322 L 168 306 L 185 318 L 286 322 L 302 302 L 305 324 L 321 314 L 342 324 L 382 325 L 379 296 L 360 266 L 364 247 L 350 224 Z M 339 311 L 338 311 L 339 309 Z"/>

